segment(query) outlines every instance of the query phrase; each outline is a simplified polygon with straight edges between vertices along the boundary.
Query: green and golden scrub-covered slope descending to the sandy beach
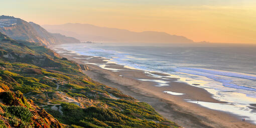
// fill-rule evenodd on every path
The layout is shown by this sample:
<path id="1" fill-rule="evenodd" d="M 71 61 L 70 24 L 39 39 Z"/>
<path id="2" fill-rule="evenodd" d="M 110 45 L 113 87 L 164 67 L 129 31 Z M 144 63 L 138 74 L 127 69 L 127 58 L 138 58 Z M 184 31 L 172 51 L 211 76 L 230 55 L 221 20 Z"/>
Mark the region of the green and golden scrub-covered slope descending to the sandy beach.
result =
<path id="1" fill-rule="evenodd" d="M 4 92 L 13 93 L 14 97 L 17 97 L 14 91 L 21 91 L 61 123 L 71 127 L 178 127 L 164 119 L 149 104 L 94 82 L 81 72 L 76 63 L 60 58 L 43 46 L 17 42 L 2 34 L 0 87 Z M 1 104 L 6 111 L 14 105 L 7 102 L 9 100 Z M 0 116 L 0 125 L 35 124 L 27 121 L 31 120 L 29 111 L 32 111 L 32 101 L 27 102 L 30 105 L 23 104 L 20 106 L 24 108 L 19 108 L 22 111 L 30 108 L 24 110 L 27 111 L 25 120 L 16 116 L 20 122 L 8 122 L 5 119 L 7 115 L 4 119 Z M 58 121 L 53 122 L 59 124 Z"/>

